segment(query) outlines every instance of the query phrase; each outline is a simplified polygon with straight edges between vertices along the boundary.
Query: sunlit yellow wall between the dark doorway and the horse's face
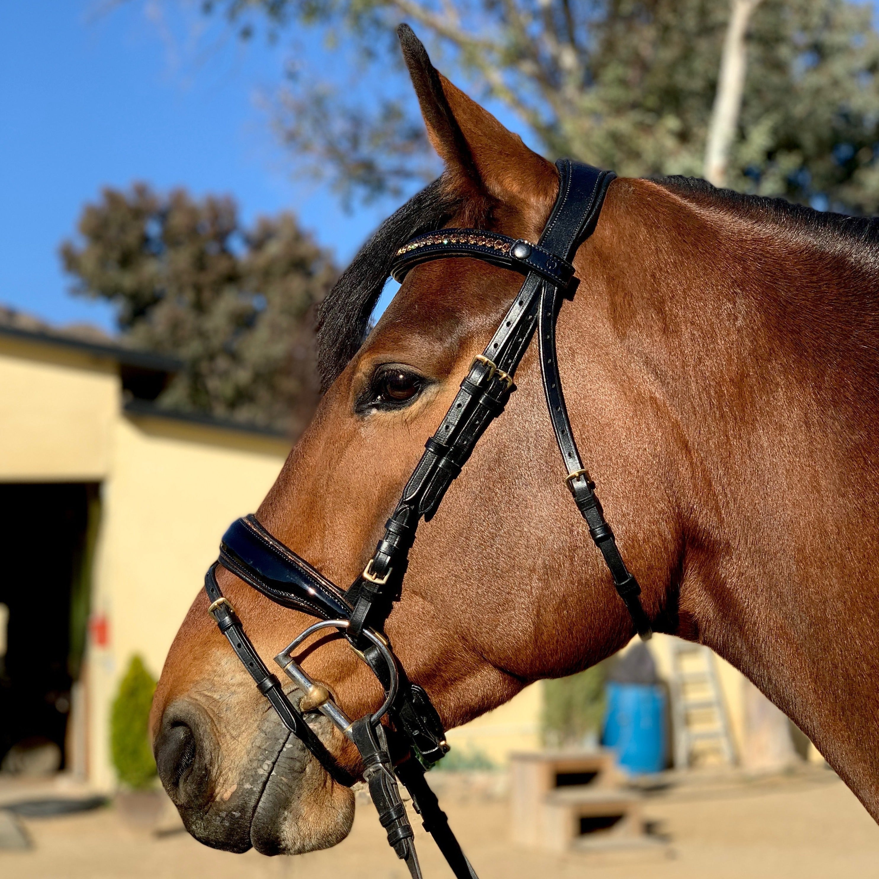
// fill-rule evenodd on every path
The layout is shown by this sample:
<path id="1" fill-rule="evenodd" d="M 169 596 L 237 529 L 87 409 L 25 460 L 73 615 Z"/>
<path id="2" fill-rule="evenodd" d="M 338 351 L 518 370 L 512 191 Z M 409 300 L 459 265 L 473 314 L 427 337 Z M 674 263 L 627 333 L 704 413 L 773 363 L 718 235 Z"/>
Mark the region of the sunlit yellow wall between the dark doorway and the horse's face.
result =
<path id="1" fill-rule="evenodd" d="M 115 420 L 92 599 L 109 640 L 92 645 L 87 683 L 98 786 L 114 783 L 109 711 L 130 658 L 140 653 L 158 676 L 222 533 L 257 508 L 288 450 L 286 440 L 163 418 Z"/>

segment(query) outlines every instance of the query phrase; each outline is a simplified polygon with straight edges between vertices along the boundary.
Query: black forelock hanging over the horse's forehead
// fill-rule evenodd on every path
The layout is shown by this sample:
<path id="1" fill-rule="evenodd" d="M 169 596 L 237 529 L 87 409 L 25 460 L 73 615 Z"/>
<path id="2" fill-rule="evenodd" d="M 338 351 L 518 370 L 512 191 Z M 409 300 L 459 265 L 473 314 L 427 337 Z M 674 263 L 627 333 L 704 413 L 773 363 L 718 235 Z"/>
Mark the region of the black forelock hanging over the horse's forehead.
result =
<path id="1" fill-rule="evenodd" d="M 442 228 L 454 216 L 460 200 L 443 184 L 443 178 L 437 178 L 382 222 L 321 303 L 317 368 L 323 390 L 336 381 L 363 344 L 396 251 L 410 238 Z"/>

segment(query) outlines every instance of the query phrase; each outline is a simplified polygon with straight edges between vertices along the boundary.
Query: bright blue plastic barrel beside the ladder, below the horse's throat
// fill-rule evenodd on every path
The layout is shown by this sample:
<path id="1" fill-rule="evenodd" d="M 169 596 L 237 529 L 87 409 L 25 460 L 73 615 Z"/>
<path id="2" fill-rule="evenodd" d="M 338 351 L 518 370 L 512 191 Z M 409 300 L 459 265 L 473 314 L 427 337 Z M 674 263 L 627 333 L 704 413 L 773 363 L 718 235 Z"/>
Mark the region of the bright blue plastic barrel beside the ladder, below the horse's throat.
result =
<path id="1" fill-rule="evenodd" d="M 603 742 L 620 766 L 645 774 L 665 769 L 665 693 L 655 684 L 610 682 Z"/>

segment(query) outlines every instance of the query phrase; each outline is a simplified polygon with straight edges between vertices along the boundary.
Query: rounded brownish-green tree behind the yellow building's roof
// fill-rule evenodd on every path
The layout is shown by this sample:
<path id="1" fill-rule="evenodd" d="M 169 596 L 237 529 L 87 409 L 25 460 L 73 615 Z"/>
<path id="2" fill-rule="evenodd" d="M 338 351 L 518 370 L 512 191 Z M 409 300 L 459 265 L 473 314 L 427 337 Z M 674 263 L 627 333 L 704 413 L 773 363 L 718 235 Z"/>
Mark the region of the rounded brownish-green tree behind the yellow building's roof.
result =
<path id="1" fill-rule="evenodd" d="M 81 242 L 62 244 L 73 292 L 113 302 L 132 345 L 184 368 L 158 404 L 287 432 L 316 405 L 313 316 L 336 269 L 292 214 L 243 228 L 235 202 L 147 185 L 105 189 Z"/>

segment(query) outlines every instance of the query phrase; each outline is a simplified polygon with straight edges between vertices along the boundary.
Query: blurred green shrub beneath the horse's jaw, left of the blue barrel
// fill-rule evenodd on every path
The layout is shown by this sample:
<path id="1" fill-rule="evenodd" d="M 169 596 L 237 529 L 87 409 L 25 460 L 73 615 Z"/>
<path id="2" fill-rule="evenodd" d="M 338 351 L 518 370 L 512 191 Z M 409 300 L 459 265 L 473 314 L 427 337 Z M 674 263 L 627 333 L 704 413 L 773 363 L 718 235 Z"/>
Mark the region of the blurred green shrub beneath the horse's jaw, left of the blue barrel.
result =
<path id="1" fill-rule="evenodd" d="M 604 716 L 605 663 L 568 678 L 543 682 L 541 726 L 546 745 L 584 745 L 600 737 Z"/>

